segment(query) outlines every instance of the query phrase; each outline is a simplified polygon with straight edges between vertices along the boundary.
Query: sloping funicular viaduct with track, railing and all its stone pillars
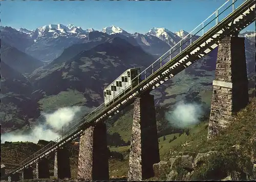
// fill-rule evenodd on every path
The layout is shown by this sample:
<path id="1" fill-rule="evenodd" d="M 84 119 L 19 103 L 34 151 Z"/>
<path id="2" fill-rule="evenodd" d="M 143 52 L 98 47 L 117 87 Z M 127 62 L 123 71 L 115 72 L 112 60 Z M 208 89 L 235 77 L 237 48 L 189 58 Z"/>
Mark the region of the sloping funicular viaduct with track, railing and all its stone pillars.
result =
<path id="1" fill-rule="evenodd" d="M 100 105 L 65 132 L 63 137 L 28 157 L 3 178 L 8 178 L 9 181 L 50 178 L 46 157 L 52 152 L 55 153 L 54 176 L 70 178 L 70 160 L 65 144 L 80 137 L 77 178 L 109 180 L 104 121 L 131 103 L 134 103 L 134 116 L 127 177 L 129 181 L 136 181 L 154 176 L 153 164 L 160 162 L 160 156 L 154 96 L 150 94 L 151 90 L 219 46 L 208 128 L 208 139 L 215 137 L 232 121 L 233 114 L 248 104 L 245 44 L 244 38 L 238 37 L 238 34 L 253 21 L 254 0 L 226 1 L 189 35 L 142 72 L 144 80 L 130 92 L 117 96 L 110 106 Z M 194 36 L 204 30 L 208 31 L 195 40 Z M 36 164 L 35 171 L 31 167 L 32 164 Z M 20 172 L 22 175 L 19 175 Z"/>

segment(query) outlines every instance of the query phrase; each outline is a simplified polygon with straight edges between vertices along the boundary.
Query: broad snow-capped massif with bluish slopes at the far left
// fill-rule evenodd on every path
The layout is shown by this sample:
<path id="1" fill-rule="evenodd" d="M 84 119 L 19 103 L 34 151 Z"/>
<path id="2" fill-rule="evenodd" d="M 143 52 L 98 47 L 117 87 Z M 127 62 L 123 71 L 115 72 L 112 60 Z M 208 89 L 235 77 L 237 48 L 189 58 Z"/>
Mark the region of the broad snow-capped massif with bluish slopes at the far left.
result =
<path id="1" fill-rule="evenodd" d="M 1 27 L 0 37 L 11 46 L 41 61 L 52 61 L 71 45 L 87 42 L 88 34 L 93 31 L 95 30 L 92 28 L 83 30 L 72 24 L 50 24 L 31 31 Z M 17 41 L 20 37 L 22 40 Z"/>

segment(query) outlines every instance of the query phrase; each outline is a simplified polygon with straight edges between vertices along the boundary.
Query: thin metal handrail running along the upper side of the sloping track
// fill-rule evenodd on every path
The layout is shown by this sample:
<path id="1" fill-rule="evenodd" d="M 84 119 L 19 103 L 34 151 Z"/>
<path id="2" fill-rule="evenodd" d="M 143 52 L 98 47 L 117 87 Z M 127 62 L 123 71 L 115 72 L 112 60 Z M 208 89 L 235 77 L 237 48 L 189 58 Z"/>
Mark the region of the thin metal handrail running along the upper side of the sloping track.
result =
<path id="1" fill-rule="evenodd" d="M 159 69 L 161 69 L 161 67 L 162 67 L 162 61 L 163 60 L 165 60 L 167 57 L 169 57 L 170 58 L 170 60 L 169 61 L 172 61 L 172 59 L 171 59 L 171 55 L 172 54 L 174 54 L 177 50 L 179 50 L 180 49 L 180 53 L 178 53 L 177 54 L 177 56 L 179 55 L 179 54 L 181 54 L 181 47 L 182 47 L 182 45 L 184 45 L 187 41 L 189 41 L 190 40 L 190 44 L 189 45 L 191 45 L 192 44 L 192 42 L 191 42 L 191 39 L 194 37 L 194 36 L 196 36 L 196 34 L 197 33 L 199 33 L 201 30 L 203 30 L 203 28 L 205 28 L 206 26 L 208 26 L 209 24 L 210 24 L 210 22 L 212 22 L 212 21 L 214 21 L 214 19 L 217 19 L 217 18 L 219 18 L 219 15 L 221 15 L 224 11 L 226 11 L 229 7 L 231 7 L 232 6 L 232 12 L 234 11 L 234 3 L 236 3 L 238 0 L 232 0 L 232 4 L 231 5 L 229 5 L 225 10 L 223 10 L 221 13 L 219 13 L 218 12 L 218 14 L 216 13 L 217 11 L 219 11 L 225 4 L 227 4 L 228 2 L 230 2 L 230 0 L 228 0 L 227 2 L 225 2 L 218 10 L 216 10 L 214 13 L 212 13 L 208 18 L 206 18 L 199 26 L 197 26 L 193 31 L 191 31 L 188 35 L 186 35 L 183 39 L 181 39 L 176 45 L 178 45 L 179 47 L 178 48 L 176 48 L 175 49 L 175 47 L 176 47 L 176 45 L 174 45 L 174 47 L 172 47 L 169 51 L 167 51 L 165 54 L 163 54 L 159 59 L 157 59 L 154 63 L 156 63 L 157 61 L 159 61 L 160 60 L 160 62 L 158 62 L 158 64 L 157 65 L 161 65 L 160 66 L 160 68 Z M 249 1 L 249 0 L 247 0 L 247 1 Z M 246 2 L 247 2 L 246 1 Z M 244 2 L 244 3 L 246 3 L 246 2 Z M 244 3 L 242 3 L 240 6 L 242 6 Z M 239 7 L 240 7 L 239 6 Z M 238 7 L 238 8 L 239 8 Z M 236 8 L 237 9 L 237 8 Z M 204 22 L 207 20 L 207 19 L 209 19 L 212 15 L 216 15 L 216 17 L 214 18 L 214 19 L 212 19 L 208 24 L 206 24 L 206 25 L 204 25 Z M 228 15 L 227 15 L 228 16 Z M 224 18 L 226 18 L 227 16 L 225 16 Z M 223 18 L 223 19 L 224 19 Z M 221 20 L 222 21 L 222 20 Z M 217 24 L 219 24 L 221 21 L 218 21 L 217 22 Z M 217 25 L 216 24 L 216 25 Z M 194 34 L 193 36 L 191 36 L 192 35 L 192 33 L 198 28 L 198 27 L 200 27 L 201 25 L 203 25 L 203 28 L 201 28 L 196 34 Z M 215 25 L 215 26 L 216 26 Z M 215 27 L 214 26 L 214 27 Z M 212 28 L 214 28 L 214 27 L 212 27 Z M 211 29 L 212 29 L 211 28 Z M 209 29 L 208 31 L 210 31 L 211 29 Z M 208 32 L 207 31 L 207 32 Z M 188 36 L 190 36 L 190 38 L 189 39 L 186 39 Z M 183 40 L 185 40 L 186 39 L 186 41 L 184 42 L 184 43 L 182 43 L 181 44 L 181 42 L 183 41 Z M 188 46 L 189 46 L 188 45 Z M 175 49 L 175 50 L 174 50 Z M 172 52 L 172 50 L 174 50 L 173 52 Z M 170 53 L 170 54 L 168 54 L 167 56 L 166 56 L 166 54 L 167 53 Z M 164 59 L 162 59 L 164 56 L 166 56 Z M 169 62 L 168 61 L 168 62 Z M 159 69 L 157 69 L 155 72 L 154 72 L 154 63 L 152 63 L 150 66 L 148 66 L 143 72 L 141 72 L 139 75 L 138 75 L 138 77 L 139 76 L 141 76 L 142 75 L 142 73 L 155 73 L 156 71 L 158 71 Z M 166 62 L 167 63 L 167 62 Z M 152 71 L 152 72 L 151 72 Z M 135 78 L 135 79 L 133 79 L 133 80 L 136 80 L 137 78 Z M 132 80 L 132 81 L 133 81 Z M 138 79 L 139 80 L 139 79 Z M 145 80 L 143 80 L 142 82 L 144 82 Z M 126 86 L 127 86 L 127 84 L 125 84 Z M 124 86 L 123 86 L 124 87 Z M 126 89 L 126 88 L 125 88 Z M 117 93 L 119 93 L 116 97 L 120 97 L 120 95 L 123 93 L 123 90 L 124 89 L 122 89 L 122 90 L 120 90 L 119 92 L 117 92 Z M 116 98 L 115 97 L 115 98 Z M 113 103 L 113 104 L 115 104 L 115 102 Z M 112 105 L 113 105 L 112 104 Z M 51 147 L 53 147 L 54 145 L 55 145 L 55 143 L 58 143 L 58 141 L 61 141 L 61 140 L 63 140 L 63 139 L 65 139 L 66 137 L 68 137 L 68 135 L 70 135 L 70 134 L 72 134 L 74 131 L 76 131 L 76 130 L 78 130 L 78 128 L 80 128 L 80 127 L 82 127 L 84 124 L 86 124 L 88 121 L 92 121 L 92 119 L 93 118 L 95 118 L 99 113 L 101 113 L 101 111 L 102 110 L 105 110 L 107 107 L 104 105 L 104 103 L 102 103 L 100 106 L 98 106 L 97 108 L 95 108 L 92 112 L 90 112 L 85 118 L 83 118 L 83 119 L 81 119 L 80 121 L 78 121 L 78 123 L 77 124 L 75 124 L 75 125 L 73 125 L 71 128 L 69 128 L 67 131 L 65 131 L 64 133 L 63 133 L 63 135 L 61 136 L 61 137 L 58 137 L 58 138 L 56 138 L 54 141 L 52 141 L 52 142 L 50 142 L 48 145 L 46 145 L 44 148 L 42 148 L 42 149 L 40 149 L 40 150 L 38 150 L 37 152 L 35 152 L 33 155 L 31 155 L 31 156 L 29 156 L 28 158 L 26 158 L 26 160 L 24 160 L 23 162 L 21 162 L 20 164 L 19 164 L 19 166 L 20 167 L 22 167 L 24 164 L 26 164 L 27 162 L 29 162 L 29 161 L 31 161 L 33 158 L 35 158 L 36 156 L 38 156 L 40 153 L 42 153 L 42 152 L 44 152 L 44 151 L 46 151 L 46 150 L 49 150 Z"/>

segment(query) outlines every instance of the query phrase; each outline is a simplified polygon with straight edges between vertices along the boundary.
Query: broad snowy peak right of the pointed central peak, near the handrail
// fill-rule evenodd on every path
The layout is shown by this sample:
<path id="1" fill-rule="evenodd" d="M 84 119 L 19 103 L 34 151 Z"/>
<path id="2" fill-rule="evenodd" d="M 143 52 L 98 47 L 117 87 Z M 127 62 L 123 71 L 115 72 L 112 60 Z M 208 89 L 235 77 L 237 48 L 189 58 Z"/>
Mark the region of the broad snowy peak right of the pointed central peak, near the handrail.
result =
<path id="1" fill-rule="evenodd" d="M 181 37 L 176 35 L 175 33 L 165 29 L 165 28 L 152 28 L 148 33 L 153 36 L 156 36 L 160 38 L 161 40 L 165 41 L 170 45 L 170 47 L 173 47 L 176 43 L 178 43 L 181 40 Z"/>

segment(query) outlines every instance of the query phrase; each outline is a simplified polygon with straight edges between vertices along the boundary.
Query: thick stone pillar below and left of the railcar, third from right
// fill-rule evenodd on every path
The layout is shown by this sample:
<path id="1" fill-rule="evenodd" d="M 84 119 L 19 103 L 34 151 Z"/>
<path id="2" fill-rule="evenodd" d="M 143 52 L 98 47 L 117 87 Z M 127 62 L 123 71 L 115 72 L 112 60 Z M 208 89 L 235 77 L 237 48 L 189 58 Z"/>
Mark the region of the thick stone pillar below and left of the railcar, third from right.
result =
<path id="1" fill-rule="evenodd" d="M 77 178 L 109 180 L 108 159 L 106 125 L 100 122 L 84 130 L 80 137 Z"/>

